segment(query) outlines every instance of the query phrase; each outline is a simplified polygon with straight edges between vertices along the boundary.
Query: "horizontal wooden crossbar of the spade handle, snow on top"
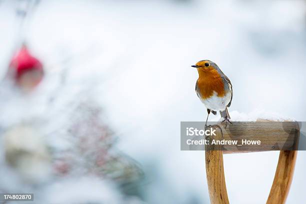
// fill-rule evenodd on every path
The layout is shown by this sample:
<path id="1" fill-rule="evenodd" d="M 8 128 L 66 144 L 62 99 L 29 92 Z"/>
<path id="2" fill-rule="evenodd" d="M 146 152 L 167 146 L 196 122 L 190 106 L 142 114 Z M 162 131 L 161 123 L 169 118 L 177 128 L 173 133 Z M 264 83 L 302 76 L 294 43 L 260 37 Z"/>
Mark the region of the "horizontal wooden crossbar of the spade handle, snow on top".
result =
<path id="1" fill-rule="evenodd" d="M 223 145 L 223 153 L 245 153 L 270 150 L 296 150 L 299 126 L 295 121 L 256 121 L 219 124 L 225 140 L 260 140 L 260 145 Z"/>

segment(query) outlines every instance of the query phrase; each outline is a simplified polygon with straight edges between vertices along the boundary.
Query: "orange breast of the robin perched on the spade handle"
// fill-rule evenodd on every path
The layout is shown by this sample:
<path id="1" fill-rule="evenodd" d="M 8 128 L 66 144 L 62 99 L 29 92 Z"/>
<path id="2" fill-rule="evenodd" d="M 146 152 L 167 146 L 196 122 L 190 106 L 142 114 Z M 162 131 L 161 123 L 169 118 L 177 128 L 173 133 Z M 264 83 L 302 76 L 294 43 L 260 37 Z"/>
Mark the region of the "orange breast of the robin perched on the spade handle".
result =
<path id="1" fill-rule="evenodd" d="M 196 86 L 202 99 L 209 98 L 213 95 L 213 91 L 217 93 L 218 97 L 225 95 L 224 83 L 221 75 L 214 68 L 197 68 L 198 79 Z"/>

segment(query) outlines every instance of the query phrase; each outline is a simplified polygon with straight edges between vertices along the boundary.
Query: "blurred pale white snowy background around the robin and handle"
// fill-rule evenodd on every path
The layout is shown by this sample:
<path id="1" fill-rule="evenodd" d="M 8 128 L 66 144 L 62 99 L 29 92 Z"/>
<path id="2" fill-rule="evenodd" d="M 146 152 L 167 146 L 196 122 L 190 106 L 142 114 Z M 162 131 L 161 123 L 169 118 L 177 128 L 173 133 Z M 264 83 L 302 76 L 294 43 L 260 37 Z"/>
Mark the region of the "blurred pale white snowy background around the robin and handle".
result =
<path id="1" fill-rule="evenodd" d="M 204 152 L 179 150 L 180 121 L 206 118 L 194 92 L 197 71 L 190 67 L 201 59 L 216 62 L 230 78 L 230 112 L 306 119 L 304 0 L 42 0 L 22 34 L 19 4 L 0 1 L 0 77 L 20 38 L 43 62 L 45 77 L 26 95 L 1 85 L 0 133 L 26 123 L 61 152 L 71 145 L 64 130 L 73 118 L 81 120 L 77 108 L 89 104 L 101 109 L 117 138 L 115 151 L 128 155 L 143 178 L 129 195 L 111 179 L 75 176 L 85 172 L 75 161 L 81 164 L 73 173 L 39 180 L 38 189 L 2 165 L 1 151 L 0 189 L 31 190 L 37 203 L 87 203 L 86 197 L 96 203 L 208 203 Z M 278 152 L 224 155 L 230 202 L 264 203 L 277 158 Z M 287 203 L 305 202 L 305 161 L 306 152 L 298 152 Z M 49 178 L 43 169 L 33 170 Z"/>

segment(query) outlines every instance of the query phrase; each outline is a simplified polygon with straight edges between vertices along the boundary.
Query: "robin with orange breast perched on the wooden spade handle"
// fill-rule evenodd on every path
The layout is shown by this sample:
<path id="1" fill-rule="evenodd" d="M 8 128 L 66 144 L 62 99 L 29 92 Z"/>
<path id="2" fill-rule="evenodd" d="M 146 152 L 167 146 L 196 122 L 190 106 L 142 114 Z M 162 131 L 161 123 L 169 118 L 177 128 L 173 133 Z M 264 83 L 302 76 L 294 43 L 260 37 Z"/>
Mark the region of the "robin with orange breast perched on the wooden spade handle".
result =
<path id="1" fill-rule="evenodd" d="M 230 122 L 227 107 L 232 99 L 232 85 L 228 77 L 210 60 L 201 60 L 191 66 L 196 67 L 198 72 L 195 92 L 207 108 L 206 123 L 209 113 L 216 114 L 216 111 L 224 118 L 222 122 Z"/>

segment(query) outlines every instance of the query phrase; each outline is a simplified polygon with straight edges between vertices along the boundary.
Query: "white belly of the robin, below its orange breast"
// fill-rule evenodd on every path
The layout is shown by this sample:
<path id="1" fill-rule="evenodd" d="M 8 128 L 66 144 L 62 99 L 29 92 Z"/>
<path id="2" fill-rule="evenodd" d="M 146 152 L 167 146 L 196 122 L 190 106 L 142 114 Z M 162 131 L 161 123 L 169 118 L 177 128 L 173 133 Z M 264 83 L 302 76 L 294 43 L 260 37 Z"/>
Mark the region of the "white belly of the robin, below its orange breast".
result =
<path id="1" fill-rule="evenodd" d="M 217 93 L 213 91 L 212 96 L 209 98 L 201 99 L 202 103 L 205 104 L 206 108 L 210 110 L 224 110 L 226 105 L 229 103 L 231 93 L 228 91 L 223 97 L 218 97 Z"/>

